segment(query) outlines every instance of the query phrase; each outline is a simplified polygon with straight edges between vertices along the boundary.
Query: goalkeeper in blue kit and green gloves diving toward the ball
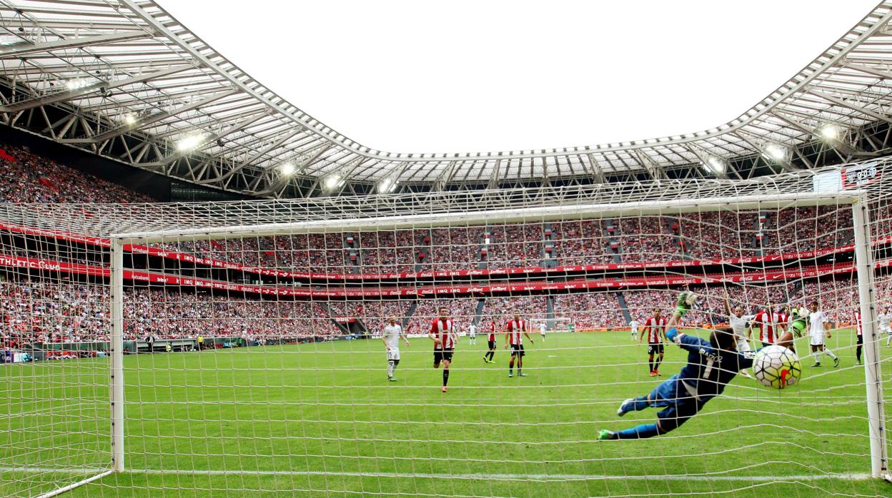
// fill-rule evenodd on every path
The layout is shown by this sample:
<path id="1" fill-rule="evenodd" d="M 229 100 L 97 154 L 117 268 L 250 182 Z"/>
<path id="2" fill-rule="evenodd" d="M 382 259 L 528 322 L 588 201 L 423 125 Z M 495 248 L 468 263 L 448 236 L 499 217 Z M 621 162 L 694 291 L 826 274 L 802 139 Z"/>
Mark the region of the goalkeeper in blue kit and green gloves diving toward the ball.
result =
<path id="1" fill-rule="evenodd" d="M 627 399 L 616 414 L 622 417 L 628 412 L 646 408 L 662 408 L 657 412 L 657 423 L 641 424 L 617 432 L 603 429 L 598 438 L 643 439 L 665 434 L 690 420 L 712 398 L 722 394 L 725 386 L 737 373 L 753 366 L 753 353 L 737 351 L 737 337 L 730 327 L 715 329 L 709 340 L 679 332 L 679 320 L 694 306 L 698 295 L 681 292 L 675 313 L 666 324 L 666 339 L 688 352 L 688 364 L 681 371 L 657 386 L 647 396 Z M 793 334 L 784 332 L 777 344 L 790 347 Z"/>

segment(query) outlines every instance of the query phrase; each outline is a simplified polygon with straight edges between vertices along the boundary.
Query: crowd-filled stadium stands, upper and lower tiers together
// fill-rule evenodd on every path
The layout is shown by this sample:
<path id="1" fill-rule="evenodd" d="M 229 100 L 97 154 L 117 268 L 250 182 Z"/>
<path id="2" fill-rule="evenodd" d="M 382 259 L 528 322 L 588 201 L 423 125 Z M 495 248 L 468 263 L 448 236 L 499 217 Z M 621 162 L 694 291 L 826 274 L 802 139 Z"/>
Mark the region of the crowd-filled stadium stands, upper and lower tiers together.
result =
<path id="1" fill-rule="evenodd" d="M 12 202 L 145 202 L 151 199 L 118 185 L 44 159 L 26 148 L 3 145 L 0 154 L 0 196 Z M 888 205 L 874 208 L 888 228 Z M 759 241 L 779 233 L 793 233 L 795 241 L 784 252 L 830 249 L 852 243 L 843 209 L 835 207 L 789 208 L 773 214 L 756 212 L 706 212 L 682 216 L 641 216 L 628 219 L 567 220 L 541 223 L 448 227 L 431 230 L 399 230 L 355 234 L 326 233 L 278 236 L 260 239 L 182 241 L 156 247 L 186 252 L 197 257 L 249 266 L 327 273 L 408 273 L 418 270 L 475 269 L 482 262 L 490 268 L 541 265 L 544 246 L 550 244 L 561 265 L 592 265 L 615 262 L 669 261 L 684 258 L 756 256 Z M 802 220 L 808 220 L 803 223 Z M 808 237 L 807 234 L 813 234 Z M 831 236 L 814 237 L 814 233 Z M 683 241 L 680 243 L 680 241 Z M 612 243 L 616 245 L 612 247 Z M 731 248 L 733 248 L 731 250 Z M 741 249 L 743 252 L 741 253 Z M 6 252 L 37 257 L 41 248 L 32 243 Z M 726 250 L 728 249 L 728 250 Z M 71 245 L 56 251 L 68 263 L 96 264 L 97 251 Z M 351 257 L 351 254 L 357 255 Z M 4 345 L 23 342 L 77 342 L 108 339 L 108 320 L 98 303 L 107 299 L 100 286 L 76 282 L 10 280 L 0 287 L 3 301 Z M 885 282 L 885 283 L 884 283 Z M 879 285 L 883 283 L 883 285 Z M 888 296 L 888 280 L 878 282 Z M 846 289 L 843 291 L 842 289 Z M 851 282 L 809 281 L 805 285 L 747 285 L 733 290 L 733 300 L 747 303 L 785 303 L 803 296 L 818 296 L 826 303 L 832 320 L 845 322 L 854 310 L 855 296 L 848 295 Z M 705 289 L 701 289 L 705 290 Z M 267 337 L 290 333 L 297 337 L 335 337 L 343 331 L 333 318 L 357 318 L 373 333 L 386 317 L 405 320 L 408 331 L 423 333 L 436 308 L 447 306 L 464 330 L 472 320 L 501 322 L 516 310 L 533 322 L 549 317 L 573 322 L 578 330 L 623 327 L 627 320 L 619 305 L 624 297 L 628 313 L 641 321 L 654 307 L 665 307 L 666 290 L 624 290 L 559 294 L 552 298 L 549 315 L 547 296 L 491 297 L 477 315 L 478 298 L 331 301 L 273 301 L 256 297 L 218 298 L 211 292 L 176 287 L 133 289 L 127 295 L 128 339 L 153 335 L 162 339 L 188 338 L 198 334 L 232 334 Z M 176 294 L 176 295 L 174 295 Z M 690 322 L 715 322 L 723 316 L 724 290 L 708 289 L 707 298 Z M 412 313 L 413 305 L 417 307 Z M 21 306 L 33 309 L 22 309 Z M 324 305 L 324 306 L 323 306 Z M 668 310 L 666 310 L 668 311 Z M 747 310 L 755 312 L 755 310 Z M 23 317 L 34 314 L 32 322 Z M 270 318 L 275 316 L 276 318 Z M 217 330 L 208 331 L 206 322 Z"/>

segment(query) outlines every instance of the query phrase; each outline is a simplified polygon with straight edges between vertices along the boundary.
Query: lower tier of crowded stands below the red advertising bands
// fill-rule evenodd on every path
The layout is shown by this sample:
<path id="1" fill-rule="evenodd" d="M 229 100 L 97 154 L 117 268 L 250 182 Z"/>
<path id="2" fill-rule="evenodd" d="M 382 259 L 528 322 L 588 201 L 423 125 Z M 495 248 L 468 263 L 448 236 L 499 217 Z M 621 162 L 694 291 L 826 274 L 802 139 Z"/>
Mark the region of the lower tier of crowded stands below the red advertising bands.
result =
<path id="1" fill-rule="evenodd" d="M 819 280 L 768 284 L 690 286 L 706 295 L 690 325 L 723 322 L 723 298 L 755 313 L 765 303 L 803 306 L 816 299 L 834 322 L 851 322 L 857 293 L 853 273 Z M 892 305 L 892 278 L 877 279 L 881 311 Z M 472 322 L 482 331 L 501 327 L 514 312 L 538 327 L 573 323 L 576 330 L 619 328 L 631 319 L 644 322 L 654 309 L 669 313 L 678 288 L 606 290 L 502 297 L 400 298 L 301 301 L 252 297 L 244 293 L 186 287 L 128 287 L 125 292 L 125 339 L 240 337 L 249 340 L 288 335 L 337 337 L 351 331 L 381 330 L 393 315 L 409 333 L 424 333 L 445 306 L 459 329 Z M 0 340 L 6 348 L 36 343 L 107 341 L 110 298 L 104 285 L 29 279 L 8 273 L 0 279 Z M 351 323 L 354 323 L 351 325 Z M 358 324 L 358 325 L 357 325 Z"/>

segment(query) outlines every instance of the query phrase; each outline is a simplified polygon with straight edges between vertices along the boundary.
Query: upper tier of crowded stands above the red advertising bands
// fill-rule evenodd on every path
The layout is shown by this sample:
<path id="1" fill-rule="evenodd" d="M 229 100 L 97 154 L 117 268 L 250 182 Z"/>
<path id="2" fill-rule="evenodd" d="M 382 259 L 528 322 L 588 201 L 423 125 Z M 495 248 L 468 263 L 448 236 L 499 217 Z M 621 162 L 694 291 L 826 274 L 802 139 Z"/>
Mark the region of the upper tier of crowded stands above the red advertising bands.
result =
<path id="1" fill-rule="evenodd" d="M 21 147 L 0 153 L 0 201 L 145 202 Z M 892 228 L 883 208 L 878 226 Z M 852 243 L 847 207 L 170 241 L 164 250 L 315 273 L 412 273 L 753 257 Z M 887 232 L 888 233 L 888 232 Z M 782 243 L 780 241 L 783 241 Z"/>

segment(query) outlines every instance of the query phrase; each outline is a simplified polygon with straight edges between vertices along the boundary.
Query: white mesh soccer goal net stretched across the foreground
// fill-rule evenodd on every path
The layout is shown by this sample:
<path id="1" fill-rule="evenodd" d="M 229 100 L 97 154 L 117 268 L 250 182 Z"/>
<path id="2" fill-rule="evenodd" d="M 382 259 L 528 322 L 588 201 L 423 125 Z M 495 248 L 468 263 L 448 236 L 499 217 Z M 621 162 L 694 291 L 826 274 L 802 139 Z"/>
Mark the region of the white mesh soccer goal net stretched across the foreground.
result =
<path id="1" fill-rule="evenodd" d="M 889 175 L 0 205 L 0 489 L 887 494 Z"/>

